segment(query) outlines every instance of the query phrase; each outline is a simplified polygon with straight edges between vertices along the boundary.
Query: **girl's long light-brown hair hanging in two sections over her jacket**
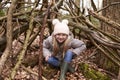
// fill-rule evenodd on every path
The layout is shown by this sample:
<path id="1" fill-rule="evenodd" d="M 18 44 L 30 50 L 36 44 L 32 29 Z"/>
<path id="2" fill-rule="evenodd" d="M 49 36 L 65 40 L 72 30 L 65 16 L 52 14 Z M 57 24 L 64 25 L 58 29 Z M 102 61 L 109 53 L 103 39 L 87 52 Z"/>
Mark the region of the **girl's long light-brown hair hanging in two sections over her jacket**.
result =
<path id="1" fill-rule="evenodd" d="M 59 53 L 60 51 L 60 47 L 58 42 L 56 41 L 55 37 L 53 36 L 53 55 L 57 55 L 57 53 Z M 67 38 L 67 40 L 61 45 L 62 48 L 62 56 L 64 57 L 65 52 L 68 50 L 69 46 L 68 43 L 70 42 L 71 38 Z"/>

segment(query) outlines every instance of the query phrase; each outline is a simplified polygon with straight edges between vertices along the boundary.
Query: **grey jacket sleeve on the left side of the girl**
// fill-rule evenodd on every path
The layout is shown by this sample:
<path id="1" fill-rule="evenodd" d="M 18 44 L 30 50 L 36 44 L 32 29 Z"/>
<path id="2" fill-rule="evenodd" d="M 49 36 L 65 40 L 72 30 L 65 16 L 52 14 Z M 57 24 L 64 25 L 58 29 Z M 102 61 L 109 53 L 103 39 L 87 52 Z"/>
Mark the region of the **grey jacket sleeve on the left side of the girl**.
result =
<path id="1" fill-rule="evenodd" d="M 51 43 L 52 43 L 52 42 L 50 42 L 51 39 L 52 39 L 52 37 L 50 36 L 43 41 L 43 56 L 44 57 L 52 54 L 52 52 L 50 51 Z"/>

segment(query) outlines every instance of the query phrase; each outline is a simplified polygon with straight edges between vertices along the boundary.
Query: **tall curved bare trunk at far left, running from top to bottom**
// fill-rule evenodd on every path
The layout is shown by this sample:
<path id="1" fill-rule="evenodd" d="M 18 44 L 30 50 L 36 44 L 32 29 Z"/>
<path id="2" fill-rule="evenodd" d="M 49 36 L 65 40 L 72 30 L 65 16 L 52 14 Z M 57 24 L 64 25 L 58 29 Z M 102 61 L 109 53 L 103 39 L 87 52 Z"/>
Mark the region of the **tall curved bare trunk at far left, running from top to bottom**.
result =
<path id="1" fill-rule="evenodd" d="M 14 13 L 15 5 L 17 4 L 17 0 L 14 0 L 10 6 L 10 9 L 8 11 L 8 16 L 7 16 L 7 33 L 6 33 L 6 38 L 7 38 L 7 47 L 4 51 L 4 54 L 0 58 L 0 75 L 2 73 L 4 64 L 11 53 L 12 49 L 12 31 L 13 31 L 13 26 L 12 26 L 12 14 Z"/>

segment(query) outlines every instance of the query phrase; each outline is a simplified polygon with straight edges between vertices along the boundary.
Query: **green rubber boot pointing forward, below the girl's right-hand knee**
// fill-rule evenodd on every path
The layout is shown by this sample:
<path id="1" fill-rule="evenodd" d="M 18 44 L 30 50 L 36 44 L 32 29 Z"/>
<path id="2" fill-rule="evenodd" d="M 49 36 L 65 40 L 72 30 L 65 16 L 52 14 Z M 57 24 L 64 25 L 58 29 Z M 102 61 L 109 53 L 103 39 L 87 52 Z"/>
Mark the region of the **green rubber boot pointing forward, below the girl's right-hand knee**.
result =
<path id="1" fill-rule="evenodd" d="M 62 66 L 61 66 L 61 73 L 60 73 L 60 80 L 65 80 L 65 74 L 68 70 L 68 62 L 63 62 Z"/>

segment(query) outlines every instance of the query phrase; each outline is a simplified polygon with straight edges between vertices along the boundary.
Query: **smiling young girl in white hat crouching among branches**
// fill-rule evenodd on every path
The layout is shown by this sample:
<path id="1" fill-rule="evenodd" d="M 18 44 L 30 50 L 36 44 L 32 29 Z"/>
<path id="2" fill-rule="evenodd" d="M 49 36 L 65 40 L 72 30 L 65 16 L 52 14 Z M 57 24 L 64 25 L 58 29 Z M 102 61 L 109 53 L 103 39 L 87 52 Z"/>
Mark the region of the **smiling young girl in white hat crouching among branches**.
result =
<path id="1" fill-rule="evenodd" d="M 65 80 L 65 73 L 71 70 L 69 63 L 73 55 L 79 55 L 86 49 L 83 41 L 74 39 L 70 34 L 68 20 L 61 22 L 53 19 L 54 31 L 51 36 L 43 41 L 43 56 L 45 61 L 61 68 L 60 80 Z"/>

